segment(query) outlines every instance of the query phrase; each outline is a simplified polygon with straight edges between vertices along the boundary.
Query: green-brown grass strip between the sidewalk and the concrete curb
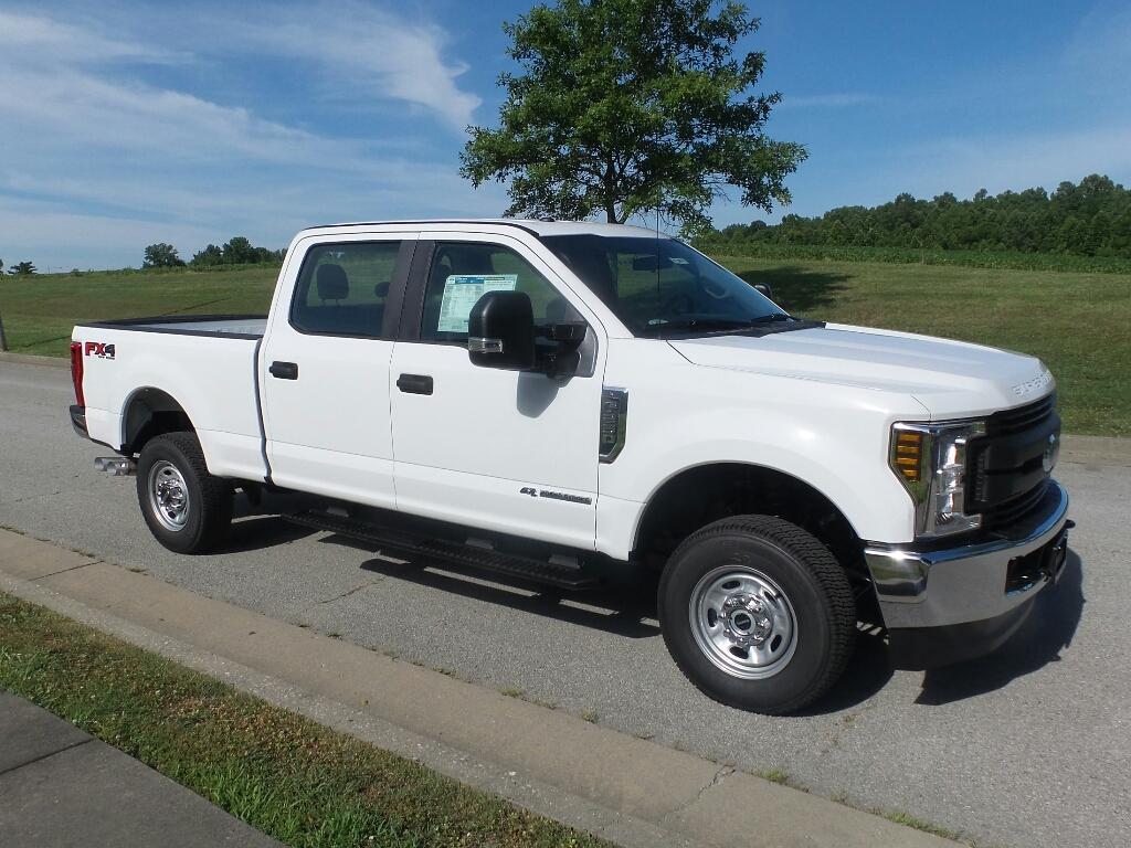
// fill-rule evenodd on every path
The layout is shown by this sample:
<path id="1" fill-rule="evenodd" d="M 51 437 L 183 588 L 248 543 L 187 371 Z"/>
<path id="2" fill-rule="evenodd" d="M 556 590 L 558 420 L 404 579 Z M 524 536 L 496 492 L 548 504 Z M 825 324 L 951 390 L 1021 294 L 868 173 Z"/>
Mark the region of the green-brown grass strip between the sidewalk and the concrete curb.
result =
<path id="1" fill-rule="evenodd" d="M 607 845 L 5 594 L 0 687 L 291 846 Z"/>

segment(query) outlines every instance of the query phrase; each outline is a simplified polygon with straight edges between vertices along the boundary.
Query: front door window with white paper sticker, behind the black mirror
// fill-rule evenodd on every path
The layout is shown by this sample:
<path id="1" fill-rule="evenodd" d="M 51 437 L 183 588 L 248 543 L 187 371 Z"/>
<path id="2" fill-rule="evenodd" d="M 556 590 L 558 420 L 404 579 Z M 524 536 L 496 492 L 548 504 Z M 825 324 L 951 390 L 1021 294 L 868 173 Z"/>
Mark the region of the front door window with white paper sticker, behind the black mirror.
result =
<path id="1" fill-rule="evenodd" d="M 569 301 L 510 248 L 440 242 L 424 293 L 421 339 L 466 344 L 467 317 L 475 301 L 499 289 L 528 294 L 536 325 L 581 320 Z"/>

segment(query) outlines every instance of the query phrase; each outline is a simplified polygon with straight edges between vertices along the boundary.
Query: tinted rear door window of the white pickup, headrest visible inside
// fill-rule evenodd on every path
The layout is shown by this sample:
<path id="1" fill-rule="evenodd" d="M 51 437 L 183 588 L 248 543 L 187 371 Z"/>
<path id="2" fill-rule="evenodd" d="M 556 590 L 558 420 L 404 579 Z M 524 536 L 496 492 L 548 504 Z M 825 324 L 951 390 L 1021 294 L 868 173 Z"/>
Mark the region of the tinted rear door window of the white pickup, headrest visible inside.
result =
<path id="1" fill-rule="evenodd" d="M 300 332 L 381 338 L 399 251 L 399 241 L 311 248 L 295 283 L 291 326 Z"/>

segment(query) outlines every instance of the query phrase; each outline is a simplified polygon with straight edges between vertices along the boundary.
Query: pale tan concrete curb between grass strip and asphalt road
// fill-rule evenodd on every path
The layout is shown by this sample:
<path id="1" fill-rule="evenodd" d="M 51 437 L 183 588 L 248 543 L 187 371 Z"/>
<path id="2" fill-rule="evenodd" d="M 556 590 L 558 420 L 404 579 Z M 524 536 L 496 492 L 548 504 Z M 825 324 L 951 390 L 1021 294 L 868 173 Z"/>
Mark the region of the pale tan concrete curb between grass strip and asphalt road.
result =
<path id="1" fill-rule="evenodd" d="M 18 534 L 0 588 L 625 846 L 953 845 Z"/>

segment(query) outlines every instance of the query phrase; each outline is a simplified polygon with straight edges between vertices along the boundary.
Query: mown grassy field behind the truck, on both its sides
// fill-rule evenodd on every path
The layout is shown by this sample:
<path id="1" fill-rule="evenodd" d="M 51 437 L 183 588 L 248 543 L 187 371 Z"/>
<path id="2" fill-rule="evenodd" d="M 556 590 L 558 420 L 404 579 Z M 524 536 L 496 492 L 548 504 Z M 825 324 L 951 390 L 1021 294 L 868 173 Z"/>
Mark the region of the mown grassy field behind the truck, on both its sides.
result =
<path id="1" fill-rule="evenodd" d="M 797 314 L 1035 354 L 1056 375 L 1067 431 L 1131 435 L 1131 275 L 718 259 L 751 283 L 772 285 Z M 266 312 L 275 276 L 252 268 L 6 277 L 0 317 L 14 351 L 64 356 L 76 321 Z"/>

